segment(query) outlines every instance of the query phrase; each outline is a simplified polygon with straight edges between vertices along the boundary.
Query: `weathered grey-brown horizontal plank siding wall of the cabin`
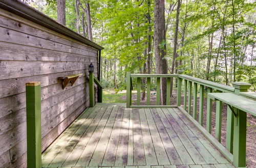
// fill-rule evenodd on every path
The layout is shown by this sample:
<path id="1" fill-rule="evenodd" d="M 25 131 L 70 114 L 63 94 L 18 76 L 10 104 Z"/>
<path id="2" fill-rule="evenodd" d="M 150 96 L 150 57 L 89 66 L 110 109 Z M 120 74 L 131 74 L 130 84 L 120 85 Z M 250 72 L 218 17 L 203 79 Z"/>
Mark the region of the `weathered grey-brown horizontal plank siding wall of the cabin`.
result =
<path id="1" fill-rule="evenodd" d="M 41 82 L 44 151 L 89 106 L 91 62 L 97 75 L 96 48 L 0 9 L 0 167 L 26 167 L 25 83 Z M 76 73 L 62 90 L 57 78 Z"/>

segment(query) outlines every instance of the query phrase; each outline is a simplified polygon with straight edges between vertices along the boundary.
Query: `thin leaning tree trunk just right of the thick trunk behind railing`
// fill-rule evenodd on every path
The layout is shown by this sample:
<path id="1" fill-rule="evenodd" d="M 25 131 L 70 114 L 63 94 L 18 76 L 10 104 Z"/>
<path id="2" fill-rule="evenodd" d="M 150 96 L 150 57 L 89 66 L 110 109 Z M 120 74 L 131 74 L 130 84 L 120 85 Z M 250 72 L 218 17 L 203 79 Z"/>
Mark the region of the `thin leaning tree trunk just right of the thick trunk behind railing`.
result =
<path id="1" fill-rule="evenodd" d="M 174 53 L 173 53 L 173 61 L 172 61 L 172 70 L 170 71 L 170 73 L 172 73 L 172 74 L 174 73 L 175 61 L 177 58 L 180 5 L 181 5 L 181 2 L 180 2 L 180 0 L 178 0 L 177 12 L 176 12 L 175 34 L 174 34 Z M 173 85 L 174 85 L 174 79 L 170 78 L 170 96 L 173 96 Z"/>

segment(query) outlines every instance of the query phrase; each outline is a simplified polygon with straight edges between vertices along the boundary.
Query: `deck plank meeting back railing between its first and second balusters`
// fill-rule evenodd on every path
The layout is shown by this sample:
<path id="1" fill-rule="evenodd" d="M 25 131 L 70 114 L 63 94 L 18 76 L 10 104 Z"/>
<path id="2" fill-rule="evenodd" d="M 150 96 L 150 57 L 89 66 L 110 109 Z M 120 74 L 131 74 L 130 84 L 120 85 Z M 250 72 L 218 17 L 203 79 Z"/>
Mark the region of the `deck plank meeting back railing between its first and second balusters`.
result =
<path id="1" fill-rule="evenodd" d="M 143 146 L 145 151 L 146 165 L 157 165 L 157 156 L 155 148 L 152 142 L 150 128 L 148 128 L 148 123 L 146 120 L 145 110 L 143 108 L 139 109 L 140 115 L 140 125 L 142 130 Z"/>

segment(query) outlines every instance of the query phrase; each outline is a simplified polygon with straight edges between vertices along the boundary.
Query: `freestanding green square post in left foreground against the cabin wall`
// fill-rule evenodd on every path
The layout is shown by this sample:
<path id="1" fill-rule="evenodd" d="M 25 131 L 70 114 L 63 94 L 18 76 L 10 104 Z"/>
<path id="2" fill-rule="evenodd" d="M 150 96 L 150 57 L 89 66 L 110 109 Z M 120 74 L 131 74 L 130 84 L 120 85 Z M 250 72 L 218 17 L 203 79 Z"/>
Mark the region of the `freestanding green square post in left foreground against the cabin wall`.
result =
<path id="1" fill-rule="evenodd" d="M 41 86 L 39 81 L 26 83 L 27 167 L 41 167 Z"/>

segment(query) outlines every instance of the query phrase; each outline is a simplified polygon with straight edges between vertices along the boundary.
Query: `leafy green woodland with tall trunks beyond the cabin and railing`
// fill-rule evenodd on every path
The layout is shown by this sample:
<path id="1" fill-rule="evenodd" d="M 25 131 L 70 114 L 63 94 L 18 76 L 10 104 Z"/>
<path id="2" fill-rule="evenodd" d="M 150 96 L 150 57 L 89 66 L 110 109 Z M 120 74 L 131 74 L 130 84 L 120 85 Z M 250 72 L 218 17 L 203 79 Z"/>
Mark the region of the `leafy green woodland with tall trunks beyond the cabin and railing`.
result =
<path id="1" fill-rule="evenodd" d="M 249 82 L 251 90 L 256 90 L 255 1 L 23 2 L 104 47 L 101 82 L 106 88 L 124 90 L 128 71 L 184 70 L 185 74 L 226 85 Z"/>

